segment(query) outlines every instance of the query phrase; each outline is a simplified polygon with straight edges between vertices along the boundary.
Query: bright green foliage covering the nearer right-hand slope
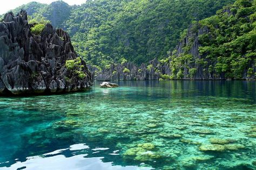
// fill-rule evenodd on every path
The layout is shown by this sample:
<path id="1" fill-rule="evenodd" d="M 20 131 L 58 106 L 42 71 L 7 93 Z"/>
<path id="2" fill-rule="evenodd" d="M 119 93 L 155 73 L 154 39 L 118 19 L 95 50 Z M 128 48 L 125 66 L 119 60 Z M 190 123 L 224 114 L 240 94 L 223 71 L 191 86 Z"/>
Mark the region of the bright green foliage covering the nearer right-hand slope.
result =
<path id="1" fill-rule="evenodd" d="M 193 30 L 193 27 L 195 28 Z M 172 76 L 189 68 L 190 77 L 203 68 L 205 74 L 225 75 L 225 78 L 241 79 L 254 76 L 256 63 L 256 0 L 238 0 L 217 15 L 194 23 L 192 34 L 207 27 L 199 34 L 199 55 L 194 57 L 189 49 L 196 36 L 191 36 L 183 47 L 185 53 L 171 58 Z M 175 53 L 175 52 L 174 52 Z M 193 68 L 196 67 L 196 68 Z"/>

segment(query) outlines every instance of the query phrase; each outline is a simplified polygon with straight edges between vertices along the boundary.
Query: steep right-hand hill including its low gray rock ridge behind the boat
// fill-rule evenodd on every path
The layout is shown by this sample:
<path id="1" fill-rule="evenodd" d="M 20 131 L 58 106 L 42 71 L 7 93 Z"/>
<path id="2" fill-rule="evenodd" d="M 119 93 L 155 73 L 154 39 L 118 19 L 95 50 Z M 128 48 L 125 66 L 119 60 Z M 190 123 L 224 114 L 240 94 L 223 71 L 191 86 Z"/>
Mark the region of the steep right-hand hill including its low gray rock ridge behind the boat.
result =
<path id="1" fill-rule="evenodd" d="M 256 0 L 238 0 L 194 22 L 166 59 L 139 67 L 123 60 L 95 73 L 96 80 L 255 80 Z"/>

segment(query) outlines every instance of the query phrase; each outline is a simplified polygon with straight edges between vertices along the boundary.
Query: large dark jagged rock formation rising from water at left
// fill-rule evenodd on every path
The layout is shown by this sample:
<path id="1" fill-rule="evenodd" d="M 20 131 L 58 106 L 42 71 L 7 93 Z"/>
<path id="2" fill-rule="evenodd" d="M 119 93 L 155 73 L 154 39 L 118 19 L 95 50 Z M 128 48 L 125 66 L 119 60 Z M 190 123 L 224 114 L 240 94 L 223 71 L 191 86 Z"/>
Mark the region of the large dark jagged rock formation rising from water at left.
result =
<path id="1" fill-rule="evenodd" d="M 46 24 L 40 35 L 32 34 L 27 13 L 6 13 L 0 23 L 0 94 L 42 94 L 77 91 L 92 86 L 85 61 L 65 67 L 77 59 L 69 35 Z"/>

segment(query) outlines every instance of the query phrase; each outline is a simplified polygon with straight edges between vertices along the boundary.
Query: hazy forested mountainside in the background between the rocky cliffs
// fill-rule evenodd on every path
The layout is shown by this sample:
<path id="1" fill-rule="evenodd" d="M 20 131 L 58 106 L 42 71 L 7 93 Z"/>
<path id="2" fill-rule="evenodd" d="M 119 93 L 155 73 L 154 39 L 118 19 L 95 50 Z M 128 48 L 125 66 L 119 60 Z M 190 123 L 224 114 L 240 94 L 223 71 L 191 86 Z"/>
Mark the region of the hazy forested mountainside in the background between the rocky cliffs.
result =
<path id="1" fill-rule="evenodd" d="M 80 56 L 92 65 L 109 67 L 123 58 L 140 64 L 166 58 L 192 21 L 210 17 L 234 0 L 96 0 L 69 6 L 29 3 L 21 8 L 32 18 L 50 20 L 72 37 Z M 186 32 L 185 32 L 186 33 Z"/>

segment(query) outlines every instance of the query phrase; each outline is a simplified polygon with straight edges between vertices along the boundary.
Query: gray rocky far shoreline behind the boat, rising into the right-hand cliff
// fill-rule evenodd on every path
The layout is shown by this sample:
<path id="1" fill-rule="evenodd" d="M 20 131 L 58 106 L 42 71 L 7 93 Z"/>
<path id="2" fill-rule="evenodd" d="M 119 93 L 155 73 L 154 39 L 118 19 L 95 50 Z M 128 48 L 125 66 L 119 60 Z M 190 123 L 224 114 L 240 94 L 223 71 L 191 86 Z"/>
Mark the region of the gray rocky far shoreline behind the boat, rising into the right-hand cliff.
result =
<path id="1" fill-rule="evenodd" d="M 95 73 L 95 80 L 226 80 L 228 77 L 225 72 L 217 73 L 214 69 L 218 60 L 208 59 L 207 54 L 199 53 L 201 46 L 199 37 L 209 32 L 206 26 L 191 25 L 186 36 L 179 42 L 169 58 L 160 61 L 154 59 L 147 65 L 143 63 L 139 67 L 126 62 L 112 64 L 110 68 L 100 71 L 92 69 Z M 190 57 L 190 61 L 187 61 L 186 57 Z M 247 67 L 252 68 L 252 75 L 249 76 L 248 69 L 245 68 L 239 79 L 255 80 L 256 60 L 248 63 Z"/>

